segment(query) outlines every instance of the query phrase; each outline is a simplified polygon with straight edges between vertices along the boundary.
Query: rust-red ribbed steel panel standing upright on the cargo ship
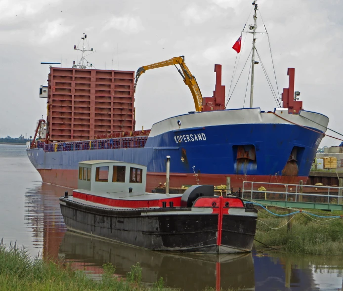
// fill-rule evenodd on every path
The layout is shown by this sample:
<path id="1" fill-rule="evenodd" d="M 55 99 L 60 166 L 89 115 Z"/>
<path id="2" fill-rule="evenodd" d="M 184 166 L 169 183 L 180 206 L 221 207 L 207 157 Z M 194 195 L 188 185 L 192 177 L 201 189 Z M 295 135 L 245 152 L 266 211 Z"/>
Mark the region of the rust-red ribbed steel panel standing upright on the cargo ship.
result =
<path id="1" fill-rule="evenodd" d="M 133 80 L 133 71 L 50 68 L 48 139 L 88 140 L 133 131 Z"/>

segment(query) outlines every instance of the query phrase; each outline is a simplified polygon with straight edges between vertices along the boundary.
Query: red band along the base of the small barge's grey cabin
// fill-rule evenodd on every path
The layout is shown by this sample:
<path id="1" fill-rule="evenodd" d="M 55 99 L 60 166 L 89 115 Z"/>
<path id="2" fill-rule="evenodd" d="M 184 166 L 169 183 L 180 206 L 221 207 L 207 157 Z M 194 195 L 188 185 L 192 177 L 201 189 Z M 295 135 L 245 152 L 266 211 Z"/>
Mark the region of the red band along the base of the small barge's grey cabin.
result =
<path id="1" fill-rule="evenodd" d="M 103 204 L 112 207 L 123 207 L 123 208 L 150 208 L 150 207 L 162 207 L 162 202 L 172 202 L 174 207 L 180 207 L 181 197 L 167 198 L 161 200 L 127 200 L 127 199 L 111 199 L 107 197 L 101 197 L 96 195 L 90 195 L 73 191 L 73 197 L 89 201 L 92 203 Z"/>

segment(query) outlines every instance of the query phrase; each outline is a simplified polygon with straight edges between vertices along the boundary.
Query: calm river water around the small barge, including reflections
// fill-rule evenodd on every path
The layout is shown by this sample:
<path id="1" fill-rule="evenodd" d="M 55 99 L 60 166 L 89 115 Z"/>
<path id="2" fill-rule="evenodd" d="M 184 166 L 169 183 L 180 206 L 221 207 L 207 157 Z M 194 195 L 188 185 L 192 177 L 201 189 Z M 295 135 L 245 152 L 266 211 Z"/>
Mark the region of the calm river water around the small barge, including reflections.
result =
<path id="1" fill-rule="evenodd" d="M 243 255 L 176 255 L 131 248 L 67 232 L 58 198 L 70 189 L 42 183 L 26 146 L 0 145 L 0 238 L 32 255 L 59 258 L 98 278 L 112 262 L 125 276 L 137 262 L 142 281 L 200 291 L 207 286 L 256 291 L 342 291 L 343 257 L 253 251 Z"/>

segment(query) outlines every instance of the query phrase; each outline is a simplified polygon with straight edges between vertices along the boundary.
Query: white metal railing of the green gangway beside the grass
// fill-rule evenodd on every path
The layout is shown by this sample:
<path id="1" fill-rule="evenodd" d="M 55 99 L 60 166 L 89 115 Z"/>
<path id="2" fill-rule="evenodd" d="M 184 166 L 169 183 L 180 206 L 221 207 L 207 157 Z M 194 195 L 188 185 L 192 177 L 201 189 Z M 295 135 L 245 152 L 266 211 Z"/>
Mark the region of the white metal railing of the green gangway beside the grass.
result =
<path id="1" fill-rule="evenodd" d="M 343 187 L 243 181 L 242 198 L 343 204 Z"/>

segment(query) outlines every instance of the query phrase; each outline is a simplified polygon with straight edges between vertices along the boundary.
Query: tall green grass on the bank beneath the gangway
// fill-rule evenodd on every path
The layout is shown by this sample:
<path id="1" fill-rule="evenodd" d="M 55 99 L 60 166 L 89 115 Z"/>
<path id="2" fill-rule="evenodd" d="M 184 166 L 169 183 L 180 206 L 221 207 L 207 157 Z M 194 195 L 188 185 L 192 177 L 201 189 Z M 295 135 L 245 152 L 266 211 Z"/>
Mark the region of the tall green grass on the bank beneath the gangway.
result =
<path id="1" fill-rule="evenodd" d="M 272 212 L 287 213 L 282 210 Z M 316 211 L 316 214 L 324 216 L 328 212 Z M 272 214 L 265 210 L 258 211 L 255 238 L 268 246 L 279 247 L 290 253 L 343 255 L 343 219 L 329 219 L 313 216 L 311 218 L 301 212 L 294 215 L 292 231 L 287 233 L 287 218 L 272 217 Z M 256 243 L 256 246 L 258 248 L 261 245 Z"/>

